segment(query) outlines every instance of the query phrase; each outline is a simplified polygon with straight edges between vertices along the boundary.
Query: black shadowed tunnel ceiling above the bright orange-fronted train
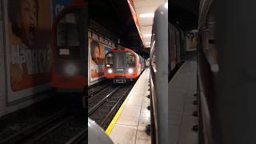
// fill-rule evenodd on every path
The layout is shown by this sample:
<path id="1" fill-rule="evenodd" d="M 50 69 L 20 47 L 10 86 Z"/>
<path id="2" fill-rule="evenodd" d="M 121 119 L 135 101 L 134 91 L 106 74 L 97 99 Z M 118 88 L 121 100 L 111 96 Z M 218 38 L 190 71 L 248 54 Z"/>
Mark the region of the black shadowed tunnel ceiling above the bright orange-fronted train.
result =
<path id="1" fill-rule="evenodd" d="M 127 0 L 88 0 L 88 4 L 89 17 L 120 38 L 122 46 L 144 49 Z"/>

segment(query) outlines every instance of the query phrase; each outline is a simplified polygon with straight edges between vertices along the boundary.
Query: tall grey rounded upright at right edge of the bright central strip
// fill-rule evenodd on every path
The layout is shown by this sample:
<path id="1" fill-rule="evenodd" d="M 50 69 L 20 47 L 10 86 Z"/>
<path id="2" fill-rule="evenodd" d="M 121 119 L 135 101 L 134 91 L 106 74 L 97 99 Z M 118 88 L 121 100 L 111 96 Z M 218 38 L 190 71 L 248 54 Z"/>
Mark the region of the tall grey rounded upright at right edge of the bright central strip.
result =
<path id="1" fill-rule="evenodd" d="M 150 46 L 150 135 L 153 144 L 167 144 L 170 142 L 168 30 L 168 3 L 166 2 L 158 7 L 154 13 Z M 177 42 L 176 38 L 172 40 Z"/>

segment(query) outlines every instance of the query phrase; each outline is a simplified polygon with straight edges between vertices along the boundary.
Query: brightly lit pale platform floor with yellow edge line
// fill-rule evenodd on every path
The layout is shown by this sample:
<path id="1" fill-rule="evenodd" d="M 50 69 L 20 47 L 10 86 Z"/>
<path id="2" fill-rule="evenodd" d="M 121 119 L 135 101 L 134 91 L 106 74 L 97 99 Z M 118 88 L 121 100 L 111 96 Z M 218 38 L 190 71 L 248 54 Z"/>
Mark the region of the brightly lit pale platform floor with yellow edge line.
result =
<path id="1" fill-rule="evenodd" d="M 110 123 L 106 134 L 115 144 L 150 144 L 145 129 L 150 124 L 150 70 L 147 68 L 138 78 L 125 102 L 118 110 L 115 120 Z"/>

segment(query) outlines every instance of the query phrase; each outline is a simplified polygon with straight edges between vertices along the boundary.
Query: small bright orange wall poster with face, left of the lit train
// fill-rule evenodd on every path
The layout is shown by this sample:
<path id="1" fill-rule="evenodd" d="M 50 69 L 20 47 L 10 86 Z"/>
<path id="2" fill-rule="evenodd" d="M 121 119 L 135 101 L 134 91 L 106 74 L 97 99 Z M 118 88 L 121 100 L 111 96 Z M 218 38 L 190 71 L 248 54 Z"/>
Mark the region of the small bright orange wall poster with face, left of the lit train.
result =
<path id="1" fill-rule="evenodd" d="M 90 82 L 102 78 L 104 74 L 105 49 L 102 42 L 92 38 L 89 40 L 90 48 Z"/>

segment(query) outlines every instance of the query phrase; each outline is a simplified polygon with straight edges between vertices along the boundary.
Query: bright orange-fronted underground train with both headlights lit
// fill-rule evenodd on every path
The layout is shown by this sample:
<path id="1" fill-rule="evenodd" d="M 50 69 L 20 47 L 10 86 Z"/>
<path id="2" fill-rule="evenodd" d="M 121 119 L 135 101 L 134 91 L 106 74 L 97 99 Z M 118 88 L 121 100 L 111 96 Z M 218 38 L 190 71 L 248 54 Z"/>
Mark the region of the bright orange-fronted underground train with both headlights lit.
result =
<path id="1" fill-rule="evenodd" d="M 145 70 L 144 58 L 128 48 L 111 49 L 105 56 L 104 76 L 114 83 L 137 79 Z"/>

